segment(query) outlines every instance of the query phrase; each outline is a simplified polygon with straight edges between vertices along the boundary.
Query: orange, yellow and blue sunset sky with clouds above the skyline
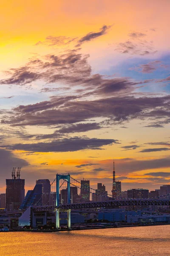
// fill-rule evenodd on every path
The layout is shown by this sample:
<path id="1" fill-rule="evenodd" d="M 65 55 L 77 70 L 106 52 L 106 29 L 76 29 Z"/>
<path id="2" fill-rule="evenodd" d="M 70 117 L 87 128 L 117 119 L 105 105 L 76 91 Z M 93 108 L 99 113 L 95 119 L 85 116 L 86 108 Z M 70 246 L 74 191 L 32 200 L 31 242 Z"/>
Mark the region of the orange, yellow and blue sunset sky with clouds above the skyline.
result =
<path id="1" fill-rule="evenodd" d="M 67 174 L 170 184 L 170 1 L 0 3 L 0 193 Z"/>

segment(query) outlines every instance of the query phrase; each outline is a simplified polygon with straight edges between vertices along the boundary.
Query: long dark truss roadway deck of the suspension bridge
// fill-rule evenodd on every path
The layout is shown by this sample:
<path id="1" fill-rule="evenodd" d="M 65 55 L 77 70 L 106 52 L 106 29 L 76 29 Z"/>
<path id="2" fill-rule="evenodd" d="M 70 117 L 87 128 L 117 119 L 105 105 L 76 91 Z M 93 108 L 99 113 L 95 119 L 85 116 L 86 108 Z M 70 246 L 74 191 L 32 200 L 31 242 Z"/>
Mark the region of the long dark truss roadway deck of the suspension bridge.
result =
<path id="1" fill-rule="evenodd" d="M 159 199 L 130 199 L 130 200 L 111 200 L 102 202 L 89 202 L 78 204 L 61 204 L 59 206 L 37 206 L 33 207 L 34 211 L 48 211 L 54 209 L 87 209 L 87 208 L 99 208 L 99 207 L 118 207 L 118 206 L 170 206 L 170 200 Z"/>

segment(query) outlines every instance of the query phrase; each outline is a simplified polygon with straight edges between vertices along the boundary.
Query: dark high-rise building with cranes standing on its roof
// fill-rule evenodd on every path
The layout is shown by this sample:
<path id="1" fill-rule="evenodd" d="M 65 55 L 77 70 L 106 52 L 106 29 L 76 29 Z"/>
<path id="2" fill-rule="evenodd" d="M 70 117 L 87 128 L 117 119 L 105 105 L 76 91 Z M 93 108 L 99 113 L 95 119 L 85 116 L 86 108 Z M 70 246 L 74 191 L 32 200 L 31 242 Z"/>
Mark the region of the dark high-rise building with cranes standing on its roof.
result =
<path id="1" fill-rule="evenodd" d="M 15 168 L 12 171 L 12 178 L 6 179 L 6 209 L 17 210 L 25 197 L 25 180 L 20 179 L 20 169 L 15 175 Z"/>

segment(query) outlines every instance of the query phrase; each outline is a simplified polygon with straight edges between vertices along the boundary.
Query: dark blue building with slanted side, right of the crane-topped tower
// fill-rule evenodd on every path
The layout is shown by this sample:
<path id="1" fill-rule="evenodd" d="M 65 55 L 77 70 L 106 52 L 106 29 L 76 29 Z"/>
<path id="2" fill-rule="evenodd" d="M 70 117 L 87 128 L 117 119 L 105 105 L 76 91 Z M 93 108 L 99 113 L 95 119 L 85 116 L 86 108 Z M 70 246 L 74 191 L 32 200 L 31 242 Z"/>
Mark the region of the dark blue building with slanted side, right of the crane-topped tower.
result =
<path id="1" fill-rule="evenodd" d="M 31 205 L 42 205 L 42 184 L 36 184 L 33 190 L 28 190 L 20 209 L 27 209 Z"/>

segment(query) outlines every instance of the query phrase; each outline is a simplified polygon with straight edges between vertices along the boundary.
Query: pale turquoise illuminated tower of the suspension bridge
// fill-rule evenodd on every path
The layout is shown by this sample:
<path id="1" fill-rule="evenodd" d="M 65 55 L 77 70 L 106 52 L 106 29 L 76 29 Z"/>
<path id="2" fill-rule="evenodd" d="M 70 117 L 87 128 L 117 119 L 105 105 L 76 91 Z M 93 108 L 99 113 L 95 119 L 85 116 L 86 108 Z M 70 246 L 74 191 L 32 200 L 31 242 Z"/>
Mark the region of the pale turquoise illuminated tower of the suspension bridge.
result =
<path id="1" fill-rule="evenodd" d="M 59 180 L 67 181 L 67 204 L 70 204 L 70 175 L 56 175 L 56 207 L 59 207 Z M 61 210 L 56 209 L 56 228 L 59 229 L 59 212 L 67 212 L 67 227 L 71 229 L 71 209 Z M 62 218 L 63 219 L 63 218 Z"/>

